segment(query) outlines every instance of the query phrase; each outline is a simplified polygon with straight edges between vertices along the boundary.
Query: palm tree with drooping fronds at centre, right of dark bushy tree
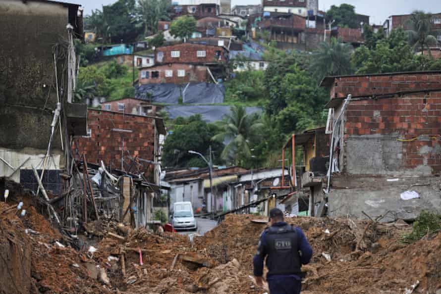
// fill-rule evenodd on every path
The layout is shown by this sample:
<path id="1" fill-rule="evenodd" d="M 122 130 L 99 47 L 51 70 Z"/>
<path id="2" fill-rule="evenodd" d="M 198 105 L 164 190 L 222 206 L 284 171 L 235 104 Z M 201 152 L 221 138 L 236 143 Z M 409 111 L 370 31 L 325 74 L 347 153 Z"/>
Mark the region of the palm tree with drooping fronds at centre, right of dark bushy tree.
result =
<path id="1" fill-rule="evenodd" d="M 263 126 L 258 114 L 247 114 L 245 107 L 231 106 L 230 113 L 220 123 L 221 133 L 214 141 L 228 142 L 221 157 L 237 165 L 251 158 L 251 142 L 258 137 L 257 131 Z"/>

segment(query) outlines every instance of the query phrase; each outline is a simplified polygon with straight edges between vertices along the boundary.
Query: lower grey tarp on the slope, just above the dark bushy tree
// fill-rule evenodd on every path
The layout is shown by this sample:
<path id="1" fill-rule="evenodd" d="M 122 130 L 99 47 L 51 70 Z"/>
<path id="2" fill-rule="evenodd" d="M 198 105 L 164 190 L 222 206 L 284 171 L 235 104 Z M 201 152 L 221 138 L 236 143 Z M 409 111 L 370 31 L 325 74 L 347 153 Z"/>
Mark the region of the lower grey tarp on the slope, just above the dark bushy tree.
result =
<path id="1" fill-rule="evenodd" d="M 206 122 L 215 122 L 222 120 L 223 116 L 230 112 L 230 106 L 224 105 L 169 105 L 165 107 L 165 111 L 171 119 L 176 117 L 189 117 L 195 114 L 200 114 L 202 119 Z M 248 114 L 262 112 L 260 107 L 246 107 Z"/>

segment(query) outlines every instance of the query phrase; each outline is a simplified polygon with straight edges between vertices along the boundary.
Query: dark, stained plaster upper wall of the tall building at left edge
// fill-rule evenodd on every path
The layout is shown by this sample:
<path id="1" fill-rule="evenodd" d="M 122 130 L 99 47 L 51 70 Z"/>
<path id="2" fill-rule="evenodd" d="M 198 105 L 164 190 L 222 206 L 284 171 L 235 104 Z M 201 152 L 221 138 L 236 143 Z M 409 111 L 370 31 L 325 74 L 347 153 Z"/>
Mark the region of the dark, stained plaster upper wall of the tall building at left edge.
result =
<path id="1" fill-rule="evenodd" d="M 52 49 L 67 36 L 67 23 L 62 4 L 0 1 L 1 147 L 47 148 L 53 114 L 43 108 L 54 109 L 56 103 Z M 59 79 L 61 68 L 58 62 Z"/>

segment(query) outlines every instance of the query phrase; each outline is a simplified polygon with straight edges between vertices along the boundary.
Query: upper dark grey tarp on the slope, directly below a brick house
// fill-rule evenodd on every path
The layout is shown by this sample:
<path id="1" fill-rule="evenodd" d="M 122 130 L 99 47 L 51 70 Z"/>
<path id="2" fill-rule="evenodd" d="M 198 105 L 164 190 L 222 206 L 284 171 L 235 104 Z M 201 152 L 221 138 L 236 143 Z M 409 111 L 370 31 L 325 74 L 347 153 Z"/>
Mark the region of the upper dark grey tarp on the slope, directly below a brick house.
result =
<path id="1" fill-rule="evenodd" d="M 187 84 L 144 84 L 136 87 L 135 97 L 157 103 L 177 104 Z M 222 84 L 190 83 L 183 103 L 222 103 L 225 87 Z"/>

